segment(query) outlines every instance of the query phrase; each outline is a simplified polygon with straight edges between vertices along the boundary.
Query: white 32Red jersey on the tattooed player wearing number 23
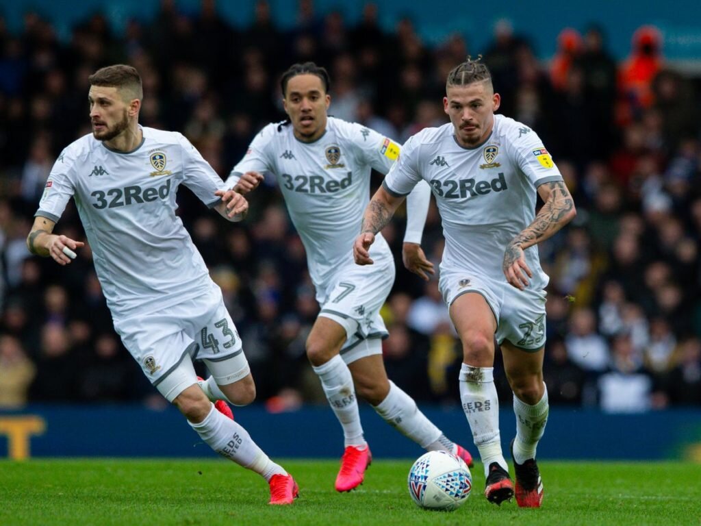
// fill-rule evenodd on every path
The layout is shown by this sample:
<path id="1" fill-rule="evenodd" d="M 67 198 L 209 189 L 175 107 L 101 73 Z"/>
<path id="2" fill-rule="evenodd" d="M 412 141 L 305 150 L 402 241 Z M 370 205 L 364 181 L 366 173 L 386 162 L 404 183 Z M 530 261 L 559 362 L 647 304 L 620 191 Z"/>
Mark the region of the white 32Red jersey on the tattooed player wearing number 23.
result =
<path id="1" fill-rule="evenodd" d="M 535 217 L 536 188 L 562 175 L 536 132 L 502 115 L 475 148 L 458 144 L 452 123 L 425 128 L 409 138 L 383 185 L 391 194 L 409 194 L 424 179 L 430 184 L 443 223 L 441 269 L 465 269 L 506 281 L 505 249 Z M 531 288 L 545 288 L 538 248 L 525 250 L 533 271 Z"/>

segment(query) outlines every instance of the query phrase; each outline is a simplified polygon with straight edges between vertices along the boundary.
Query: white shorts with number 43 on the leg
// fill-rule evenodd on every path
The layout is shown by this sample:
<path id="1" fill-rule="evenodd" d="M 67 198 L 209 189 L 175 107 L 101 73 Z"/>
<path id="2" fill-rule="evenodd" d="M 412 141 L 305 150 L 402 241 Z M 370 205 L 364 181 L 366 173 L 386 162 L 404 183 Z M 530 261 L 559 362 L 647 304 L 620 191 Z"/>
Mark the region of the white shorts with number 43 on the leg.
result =
<path id="1" fill-rule="evenodd" d="M 220 385 L 250 372 L 236 325 L 217 287 L 163 311 L 115 319 L 114 328 L 144 375 L 170 401 L 196 383 L 192 360 L 204 360 Z M 186 362 L 189 367 L 181 366 Z"/>

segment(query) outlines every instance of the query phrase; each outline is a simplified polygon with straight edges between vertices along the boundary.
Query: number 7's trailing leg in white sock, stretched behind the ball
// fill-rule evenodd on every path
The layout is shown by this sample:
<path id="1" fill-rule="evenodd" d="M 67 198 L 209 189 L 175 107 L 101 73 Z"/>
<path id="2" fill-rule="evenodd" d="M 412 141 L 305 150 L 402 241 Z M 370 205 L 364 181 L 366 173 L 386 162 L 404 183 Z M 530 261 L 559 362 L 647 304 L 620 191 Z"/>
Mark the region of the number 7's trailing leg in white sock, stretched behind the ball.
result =
<path id="1" fill-rule="evenodd" d="M 470 452 L 449 440 L 418 409 L 414 399 L 388 379 L 382 360 L 381 340 L 379 338 L 363 340 L 353 349 L 353 353 L 358 351 L 365 356 L 348 363 L 358 396 L 367 400 L 390 426 L 414 440 L 423 449 L 456 454 L 468 466 L 472 466 Z"/>

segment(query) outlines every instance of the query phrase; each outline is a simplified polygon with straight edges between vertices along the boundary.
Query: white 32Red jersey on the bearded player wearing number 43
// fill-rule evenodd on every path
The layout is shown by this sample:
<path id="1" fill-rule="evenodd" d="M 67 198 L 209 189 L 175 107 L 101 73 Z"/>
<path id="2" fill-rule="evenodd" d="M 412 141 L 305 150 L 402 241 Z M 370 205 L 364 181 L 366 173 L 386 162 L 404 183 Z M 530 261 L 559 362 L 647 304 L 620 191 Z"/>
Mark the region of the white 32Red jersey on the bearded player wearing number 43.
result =
<path id="1" fill-rule="evenodd" d="M 181 134 L 141 129 L 142 144 L 128 152 L 93 135 L 70 144 L 36 212 L 57 222 L 75 199 L 114 318 L 162 309 L 216 286 L 175 215 L 175 194 L 184 184 L 212 208 L 224 182 Z"/>

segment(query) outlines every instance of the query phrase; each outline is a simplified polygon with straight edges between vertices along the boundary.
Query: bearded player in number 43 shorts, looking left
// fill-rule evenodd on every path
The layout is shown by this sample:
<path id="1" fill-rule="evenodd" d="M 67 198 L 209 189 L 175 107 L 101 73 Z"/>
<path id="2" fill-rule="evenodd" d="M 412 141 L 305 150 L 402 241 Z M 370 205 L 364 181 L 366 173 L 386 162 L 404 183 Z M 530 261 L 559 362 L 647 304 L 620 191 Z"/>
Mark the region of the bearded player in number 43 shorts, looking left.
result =
<path id="1" fill-rule="evenodd" d="M 144 374 L 213 450 L 266 478 L 270 504 L 292 504 L 292 476 L 233 421 L 226 403 L 219 404 L 226 416 L 212 405 L 251 403 L 255 384 L 222 292 L 175 215 L 175 193 L 184 184 L 233 221 L 248 204 L 233 192 L 222 200 L 224 183 L 185 137 L 139 126 L 135 68 L 104 67 L 88 81 L 93 133 L 57 159 L 27 246 L 60 265 L 76 257 L 83 243 L 53 234 L 74 197 L 114 328 Z M 194 359 L 212 373 L 201 387 Z"/>

